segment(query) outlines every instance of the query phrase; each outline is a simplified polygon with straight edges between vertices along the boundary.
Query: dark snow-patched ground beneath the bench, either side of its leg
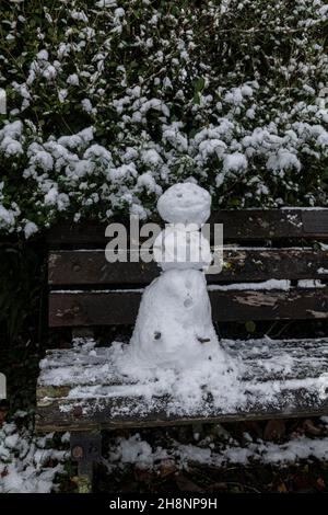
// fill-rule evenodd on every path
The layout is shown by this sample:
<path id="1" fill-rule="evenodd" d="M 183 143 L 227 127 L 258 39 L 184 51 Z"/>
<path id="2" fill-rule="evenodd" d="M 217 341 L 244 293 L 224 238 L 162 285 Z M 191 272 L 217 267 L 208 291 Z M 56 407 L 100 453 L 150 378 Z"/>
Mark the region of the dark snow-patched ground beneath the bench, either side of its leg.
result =
<path id="1" fill-rule="evenodd" d="M 75 492 L 69 434 L 32 422 L 2 422 L 0 492 Z M 95 492 L 328 492 L 328 417 L 106 433 Z"/>

